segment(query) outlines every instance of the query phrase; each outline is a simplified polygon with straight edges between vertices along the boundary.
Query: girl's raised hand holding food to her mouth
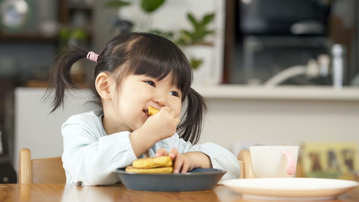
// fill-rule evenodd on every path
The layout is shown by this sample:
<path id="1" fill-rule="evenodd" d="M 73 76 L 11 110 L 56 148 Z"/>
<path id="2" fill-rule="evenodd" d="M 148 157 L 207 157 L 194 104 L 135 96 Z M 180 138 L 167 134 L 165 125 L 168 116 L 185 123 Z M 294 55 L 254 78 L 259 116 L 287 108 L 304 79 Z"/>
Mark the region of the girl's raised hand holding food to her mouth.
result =
<path id="1" fill-rule="evenodd" d="M 173 136 L 179 123 L 180 118 L 176 117 L 175 112 L 169 106 L 164 106 L 157 114 L 150 116 L 141 129 L 160 141 Z"/>

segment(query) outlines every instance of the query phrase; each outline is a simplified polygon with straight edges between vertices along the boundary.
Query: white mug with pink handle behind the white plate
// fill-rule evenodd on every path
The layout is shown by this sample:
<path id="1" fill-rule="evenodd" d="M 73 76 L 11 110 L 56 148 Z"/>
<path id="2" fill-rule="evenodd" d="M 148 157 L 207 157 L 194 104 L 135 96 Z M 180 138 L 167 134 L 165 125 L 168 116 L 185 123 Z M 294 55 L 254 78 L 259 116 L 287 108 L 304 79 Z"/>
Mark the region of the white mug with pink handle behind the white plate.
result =
<path id="1" fill-rule="evenodd" d="M 291 178 L 295 174 L 298 146 L 251 146 L 256 178 Z"/>

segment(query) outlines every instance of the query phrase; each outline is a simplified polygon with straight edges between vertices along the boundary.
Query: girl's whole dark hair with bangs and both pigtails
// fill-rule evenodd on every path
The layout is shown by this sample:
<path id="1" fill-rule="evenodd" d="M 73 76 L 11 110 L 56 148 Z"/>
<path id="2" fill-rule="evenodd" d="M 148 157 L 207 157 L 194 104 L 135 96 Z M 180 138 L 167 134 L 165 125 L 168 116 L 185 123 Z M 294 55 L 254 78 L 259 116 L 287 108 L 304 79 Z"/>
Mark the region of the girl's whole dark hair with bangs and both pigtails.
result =
<path id="1" fill-rule="evenodd" d="M 65 91 L 79 87 L 71 79 L 71 66 L 86 58 L 88 51 L 70 47 L 57 58 L 51 72 L 45 100 L 52 101 L 53 113 L 64 107 Z M 127 33 L 112 38 L 99 54 L 94 70 L 94 79 L 101 72 L 117 76 L 117 85 L 128 75 L 147 75 L 159 80 L 172 75 L 172 84 L 182 91 L 182 104 L 187 101 L 186 113 L 182 116 L 177 131 L 185 141 L 197 143 L 201 133 L 202 119 L 207 109 L 204 98 L 191 88 L 192 68 L 182 50 L 172 41 L 151 33 Z M 55 93 L 52 92 L 55 87 Z M 102 107 L 94 82 L 94 101 Z"/>

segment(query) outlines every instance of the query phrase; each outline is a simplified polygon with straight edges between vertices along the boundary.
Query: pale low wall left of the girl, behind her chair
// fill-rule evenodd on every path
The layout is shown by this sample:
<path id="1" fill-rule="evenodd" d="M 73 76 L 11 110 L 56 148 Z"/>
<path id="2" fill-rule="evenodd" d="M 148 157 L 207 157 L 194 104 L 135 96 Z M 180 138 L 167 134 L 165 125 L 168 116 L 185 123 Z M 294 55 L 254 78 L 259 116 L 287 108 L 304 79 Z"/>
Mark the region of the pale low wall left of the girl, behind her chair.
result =
<path id="1" fill-rule="evenodd" d="M 69 105 L 64 111 L 51 111 L 47 103 L 41 101 L 45 88 L 15 89 L 15 140 L 14 168 L 18 170 L 18 157 L 21 148 L 29 148 L 33 159 L 61 156 L 64 151 L 61 125 L 74 114 L 92 107 L 85 105 L 89 91 L 70 96 Z"/>

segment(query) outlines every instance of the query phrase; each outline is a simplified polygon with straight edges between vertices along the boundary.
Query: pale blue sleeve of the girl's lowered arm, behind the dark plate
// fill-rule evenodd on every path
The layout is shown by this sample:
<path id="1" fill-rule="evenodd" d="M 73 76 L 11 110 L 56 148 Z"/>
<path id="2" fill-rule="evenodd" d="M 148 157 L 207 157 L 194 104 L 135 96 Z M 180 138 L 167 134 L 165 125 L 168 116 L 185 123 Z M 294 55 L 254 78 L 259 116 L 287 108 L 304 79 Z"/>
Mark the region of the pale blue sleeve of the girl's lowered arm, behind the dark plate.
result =
<path id="1" fill-rule="evenodd" d="M 206 142 L 204 144 L 195 144 L 192 146 L 191 142 L 186 142 L 176 133 L 172 137 L 155 144 L 154 149 L 157 151 L 161 147 L 166 148 L 168 151 L 171 150 L 171 148 L 177 148 L 179 153 L 186 153 L 190 151 L 204 153 L 210 157 L 213 168 L 227 171 L 221 180 L 237 179 L 241 174 L 238 159 L 233 155 L 233 153 L 218 144 Z"/>

